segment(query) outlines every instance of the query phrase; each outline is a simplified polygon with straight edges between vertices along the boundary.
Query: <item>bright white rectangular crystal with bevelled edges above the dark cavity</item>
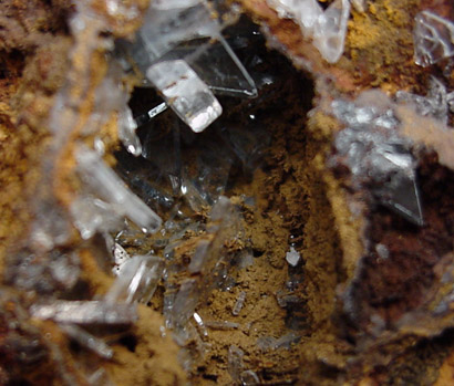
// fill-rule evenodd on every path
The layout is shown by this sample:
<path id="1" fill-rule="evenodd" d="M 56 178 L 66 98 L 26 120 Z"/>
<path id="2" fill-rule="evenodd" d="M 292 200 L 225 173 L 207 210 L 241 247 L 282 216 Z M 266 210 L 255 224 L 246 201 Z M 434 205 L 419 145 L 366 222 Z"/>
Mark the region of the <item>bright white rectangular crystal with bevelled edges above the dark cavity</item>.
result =
<path id="1" fill-rule="evenodd" d="M 156 63 L 146 76 L 195 133 L 203 132 L 223 113 L 211 91 L 183 60 Z"/>

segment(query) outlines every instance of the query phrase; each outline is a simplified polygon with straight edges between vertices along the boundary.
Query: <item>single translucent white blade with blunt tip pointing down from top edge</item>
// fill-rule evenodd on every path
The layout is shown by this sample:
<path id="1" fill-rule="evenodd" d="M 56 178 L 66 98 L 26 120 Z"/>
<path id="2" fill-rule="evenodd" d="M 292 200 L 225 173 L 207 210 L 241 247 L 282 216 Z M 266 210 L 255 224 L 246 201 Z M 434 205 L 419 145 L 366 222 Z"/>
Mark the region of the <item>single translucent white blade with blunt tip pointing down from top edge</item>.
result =
<path id="1" fill-rule="evenodd" d="M 317 19 L 313 28 L 313 45 L 329 63 L 336 63 L 343 52 L 350 1 L 336 0 Z"/>

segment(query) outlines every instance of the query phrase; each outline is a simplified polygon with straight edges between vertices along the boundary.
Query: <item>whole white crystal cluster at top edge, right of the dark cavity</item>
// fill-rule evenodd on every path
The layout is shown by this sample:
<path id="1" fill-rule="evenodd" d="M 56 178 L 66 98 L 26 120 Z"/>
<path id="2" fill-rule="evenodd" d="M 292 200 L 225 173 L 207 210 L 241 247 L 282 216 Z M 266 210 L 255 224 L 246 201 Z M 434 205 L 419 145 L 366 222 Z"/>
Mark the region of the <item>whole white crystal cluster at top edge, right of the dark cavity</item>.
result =
<path id="1" fill-rule="evenodd" d="M 329 63 L 343 53 L 350 1 L 336 0 L 324 11 L 317 0 L 267 0 L 281 18 L 293 19 Z M 362 8 L 362 2 L 355 2 Z"/>

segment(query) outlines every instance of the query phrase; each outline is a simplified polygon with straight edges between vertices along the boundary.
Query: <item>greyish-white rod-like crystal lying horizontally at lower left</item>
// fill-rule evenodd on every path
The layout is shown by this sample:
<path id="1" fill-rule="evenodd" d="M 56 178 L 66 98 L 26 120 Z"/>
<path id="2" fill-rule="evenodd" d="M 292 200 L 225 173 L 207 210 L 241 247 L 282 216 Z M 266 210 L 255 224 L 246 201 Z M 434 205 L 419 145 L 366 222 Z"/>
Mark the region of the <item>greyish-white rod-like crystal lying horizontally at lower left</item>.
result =
<path id="1" fill-rule="evenodd" d="M 33 317 L 65 324 L 131 324 L 137 320 L 135 304 L 115 304 L 102 301 L 55 300 L 48 304 L 33 304 Z"/>

